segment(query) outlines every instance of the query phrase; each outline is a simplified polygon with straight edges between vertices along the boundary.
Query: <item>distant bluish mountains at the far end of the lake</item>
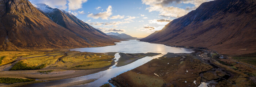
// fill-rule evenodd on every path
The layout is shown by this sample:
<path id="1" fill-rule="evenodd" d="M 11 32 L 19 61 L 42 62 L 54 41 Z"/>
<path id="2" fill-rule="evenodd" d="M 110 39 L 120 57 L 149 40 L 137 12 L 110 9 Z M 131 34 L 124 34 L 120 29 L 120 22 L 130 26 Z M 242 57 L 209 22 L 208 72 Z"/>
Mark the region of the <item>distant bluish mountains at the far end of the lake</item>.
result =
<path id="1" fill-rule="evenodd" d="M 137 39 L 139 39 L 139 38 L 137 38 L 137 37 L 132 37 L 132 36 L 129 36 L 129 35 L 127 35 L 127 34 L 124 34 L 124 33 L 121 33 L 121 34 L 119 34 L 119 33 L 114 33 L 114 32 L 109 32 L 109 33 L 106 33 L 107 35 L 113 35 L 113 36 L 118 36 L 118 37 L 120 37 L 121 39 L 123 39 L 123 40 L 137 40 Z M 112 36 L 112 37 L 113 37 Z M 111 36 L 110 36 L 111 37 Z M 115 37 L 113 37 L 113 38 L 115 38 Z M 116 37 L 117 38 L 117 37 Z M 118 38 L 117 38 L 118 39 Z"/>

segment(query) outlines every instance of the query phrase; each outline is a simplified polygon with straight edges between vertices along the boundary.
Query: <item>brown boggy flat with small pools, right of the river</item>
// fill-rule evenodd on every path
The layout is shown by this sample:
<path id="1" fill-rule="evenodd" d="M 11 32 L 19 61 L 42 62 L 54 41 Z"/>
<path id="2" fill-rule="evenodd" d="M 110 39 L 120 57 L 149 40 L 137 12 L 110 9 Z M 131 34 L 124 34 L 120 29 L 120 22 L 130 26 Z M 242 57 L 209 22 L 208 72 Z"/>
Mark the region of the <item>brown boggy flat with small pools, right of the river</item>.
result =
<path id="1" fill-rule="evenodd" d="M 226 60 L 207 54 L 215 55 L 198 50 L 191 54 L 167 53 L 109 82 L 117 87 L 197 87 L 201 83 L 216 87 L 255 86 L 256 69 L 236 62 L 227 62 L 230 66 L 226 66 L 220 63 Z"/>

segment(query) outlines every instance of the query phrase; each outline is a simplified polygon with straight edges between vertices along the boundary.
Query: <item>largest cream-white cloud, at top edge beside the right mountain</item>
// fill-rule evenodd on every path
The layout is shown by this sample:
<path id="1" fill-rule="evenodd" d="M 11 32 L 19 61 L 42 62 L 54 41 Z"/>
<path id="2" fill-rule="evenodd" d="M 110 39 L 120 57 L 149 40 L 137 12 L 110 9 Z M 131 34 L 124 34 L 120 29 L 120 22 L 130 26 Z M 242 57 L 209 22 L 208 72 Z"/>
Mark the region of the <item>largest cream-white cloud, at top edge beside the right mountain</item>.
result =
<path id="1" fill-rule="evenodd" d="M 181 17 L 188 13 L 188 10 L 195 9 L 199 7 L 200 4 L 208 0 L 142 0 L 143 4 L 150 5 L 146 10 L 149 12 L 157 11 L 159 16 L 164 17 Z M 182 9 L 178 7 L 169 6 L 170 4 L 193 4 L 194 7 L 187 7 L 187 9 Z"/>

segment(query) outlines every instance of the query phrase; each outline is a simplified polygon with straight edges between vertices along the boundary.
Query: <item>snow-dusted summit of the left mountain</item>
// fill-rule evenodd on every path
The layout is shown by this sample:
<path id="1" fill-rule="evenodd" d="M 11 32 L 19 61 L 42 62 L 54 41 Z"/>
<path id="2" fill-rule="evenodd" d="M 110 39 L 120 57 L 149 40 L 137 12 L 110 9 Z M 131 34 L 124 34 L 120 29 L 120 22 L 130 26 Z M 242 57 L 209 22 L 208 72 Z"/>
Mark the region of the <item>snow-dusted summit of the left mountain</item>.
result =
<path id="1" fill-rule="evenodd" d="M 45 13 L 50 13 L 53 11 L 53 8 L 49 7 L 49 5 L 46 5 L 44 3 L 35 4 L 34 7 Z"/>

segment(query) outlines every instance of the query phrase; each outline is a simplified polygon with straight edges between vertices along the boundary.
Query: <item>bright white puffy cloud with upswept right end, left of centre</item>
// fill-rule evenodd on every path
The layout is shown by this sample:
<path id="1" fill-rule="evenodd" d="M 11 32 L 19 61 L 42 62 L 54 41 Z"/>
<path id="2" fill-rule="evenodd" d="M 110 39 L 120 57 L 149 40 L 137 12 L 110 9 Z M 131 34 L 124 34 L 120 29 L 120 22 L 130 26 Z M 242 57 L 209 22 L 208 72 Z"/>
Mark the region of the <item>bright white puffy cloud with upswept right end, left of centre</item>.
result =
<path id="1" fill-rule="evenodd" d="M 112 15 L 112 6 L 109 5 L 108 9 L 106 12 L 100 12 L 100 13 L 97 13 L 97 14 L 88 14 L 87 17 L 92 17 L 94 19 L 98 19 L 98 18 L 101 18 L 103 20 L 108 20 L 108 17 Z"/>

